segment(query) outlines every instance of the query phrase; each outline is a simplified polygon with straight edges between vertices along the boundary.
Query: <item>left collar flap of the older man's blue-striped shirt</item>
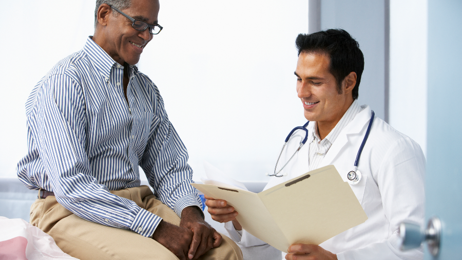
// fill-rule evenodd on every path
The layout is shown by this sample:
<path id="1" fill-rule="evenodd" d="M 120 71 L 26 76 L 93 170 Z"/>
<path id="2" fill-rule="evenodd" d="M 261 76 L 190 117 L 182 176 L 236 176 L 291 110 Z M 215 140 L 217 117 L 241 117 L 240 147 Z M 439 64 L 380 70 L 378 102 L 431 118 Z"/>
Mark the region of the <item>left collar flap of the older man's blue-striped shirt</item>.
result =
<path id="1" fill-rule="evenodd" d="M 94 66 L 99 70 L 101 75 L 109 79 L 112 66 L 119 63 L 115 62 L 109 54 L 103 50 L 103 48 L 91 39 L 91 37 L 92 36 L 89 36 L 87 38 L 87 42 L 85 43 L 83 50 L 88 55 L 88 58 L 92 61 Z"/>

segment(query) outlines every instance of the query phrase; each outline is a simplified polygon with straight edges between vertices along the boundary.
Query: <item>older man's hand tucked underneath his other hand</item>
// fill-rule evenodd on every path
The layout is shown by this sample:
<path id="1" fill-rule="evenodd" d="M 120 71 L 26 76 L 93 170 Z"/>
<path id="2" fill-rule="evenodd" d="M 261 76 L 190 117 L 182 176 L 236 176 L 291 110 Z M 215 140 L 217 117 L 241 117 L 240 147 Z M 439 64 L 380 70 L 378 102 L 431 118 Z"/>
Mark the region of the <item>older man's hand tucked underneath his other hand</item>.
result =
<path id="1" fill-rule="evenodd" d="M 193 233 L 189 229 L 181 228 L 162 220 L 154 234 L 152 234 L 152 239 L 166 247 L 180 260 L 186 260 L 192 235 Z"/>

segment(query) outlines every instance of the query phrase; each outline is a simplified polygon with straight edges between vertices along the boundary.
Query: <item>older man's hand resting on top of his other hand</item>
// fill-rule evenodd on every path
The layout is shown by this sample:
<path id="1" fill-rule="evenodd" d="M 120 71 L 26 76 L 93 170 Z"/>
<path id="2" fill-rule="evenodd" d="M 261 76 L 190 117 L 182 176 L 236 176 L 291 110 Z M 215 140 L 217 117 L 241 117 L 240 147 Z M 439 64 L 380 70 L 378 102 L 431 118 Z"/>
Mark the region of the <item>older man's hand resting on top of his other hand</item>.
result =
<path id="1" fill-rule="evenodd" d="M 211 248 L 220 246 L 221 235 L 202 218 L 200 209 L 190 206 L 181 212 L 180 227 L 191 230 L 194 235 L 189 246 L 188 258 L 197 259 Z"/>

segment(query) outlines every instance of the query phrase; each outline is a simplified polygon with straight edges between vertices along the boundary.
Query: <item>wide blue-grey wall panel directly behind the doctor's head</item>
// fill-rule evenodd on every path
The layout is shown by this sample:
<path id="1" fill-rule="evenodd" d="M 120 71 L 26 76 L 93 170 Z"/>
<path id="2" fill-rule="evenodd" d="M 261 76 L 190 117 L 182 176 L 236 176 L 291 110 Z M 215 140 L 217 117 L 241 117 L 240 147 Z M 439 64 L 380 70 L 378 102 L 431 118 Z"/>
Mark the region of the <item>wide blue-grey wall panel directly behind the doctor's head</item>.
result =
<path id="1" fill-rule="evenodd" d="M 359 43 L 364 71 L 358 102 L 368 104 L 375 115 L 385 118 L 385 4 L 384 0 L 322 0 L 321 29 L 341 28 Z"/>

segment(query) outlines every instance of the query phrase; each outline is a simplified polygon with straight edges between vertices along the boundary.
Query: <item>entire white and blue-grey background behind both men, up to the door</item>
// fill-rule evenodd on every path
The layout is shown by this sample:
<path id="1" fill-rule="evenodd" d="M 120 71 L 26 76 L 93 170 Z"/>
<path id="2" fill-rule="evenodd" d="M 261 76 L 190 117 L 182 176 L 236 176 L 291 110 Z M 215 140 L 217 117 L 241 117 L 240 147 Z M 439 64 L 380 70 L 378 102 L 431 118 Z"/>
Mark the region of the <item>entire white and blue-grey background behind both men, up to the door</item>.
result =
<path id="1" fill-rule="evenodd" d="M 365 69 L 359 103 L 427 147 L 427 1 L 160 1 L 138 64 L 159 87 L 189 153 L 241 181 L 267 181 L 283 140 L 302 125 L 295 91 L 298 33 L 343 28 Z M 93 34 L 94 0 L 16 0 L 0 9 L 3 77 L 0 177 L 26 154 L 27 97 L 51 67 Z M 145 179 L 144 176 L 141 176 Z"/>

